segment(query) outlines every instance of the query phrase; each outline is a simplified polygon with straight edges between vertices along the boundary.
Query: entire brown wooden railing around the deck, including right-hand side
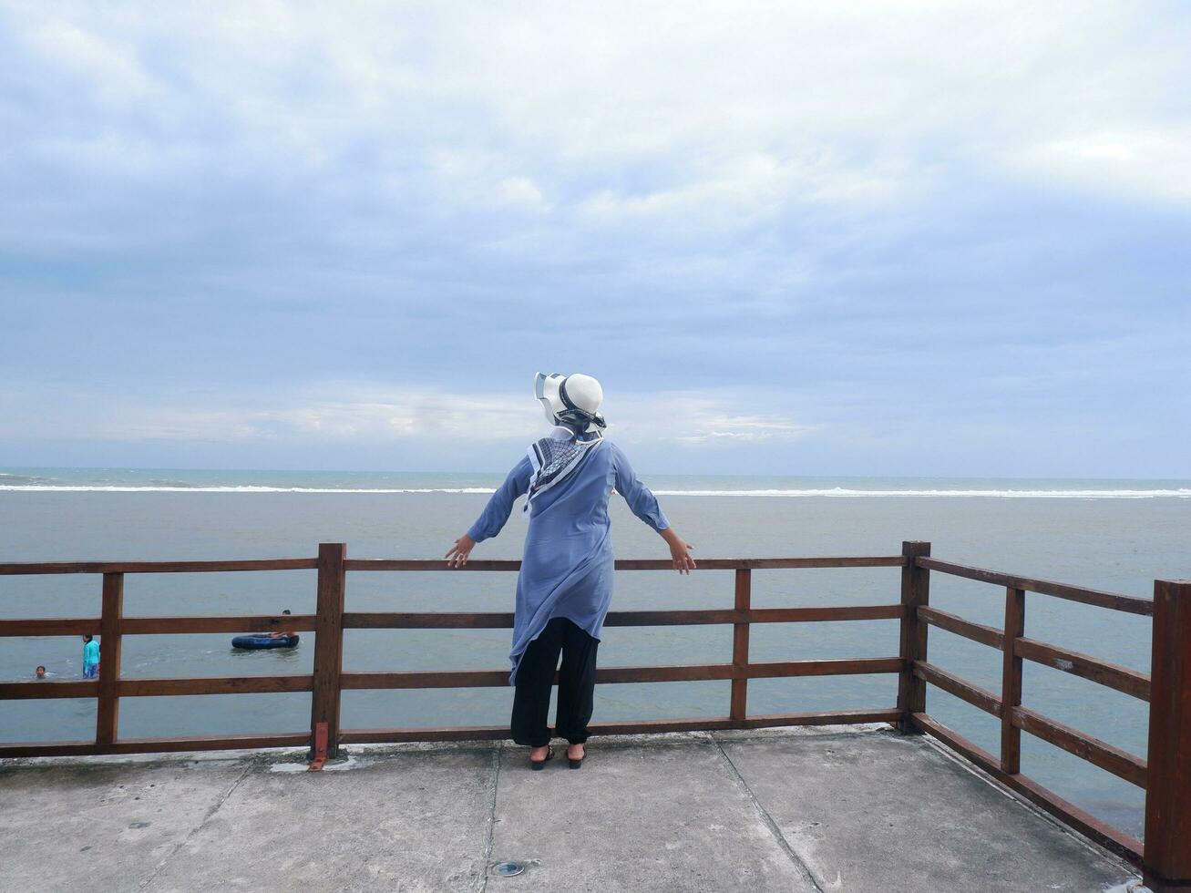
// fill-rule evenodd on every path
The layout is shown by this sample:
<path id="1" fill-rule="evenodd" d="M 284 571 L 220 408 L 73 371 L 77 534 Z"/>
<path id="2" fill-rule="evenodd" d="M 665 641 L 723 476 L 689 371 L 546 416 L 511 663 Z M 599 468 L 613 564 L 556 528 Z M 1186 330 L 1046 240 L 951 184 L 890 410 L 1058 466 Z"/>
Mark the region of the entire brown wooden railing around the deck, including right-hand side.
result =
<path id="1" fill-rule="evenodd" d="M 464 572 L 513 572 L 516 561 L 472 561 Z M 732 627 L 731 663 L 686 666 L 604 667 L 599 683 L 731 680 L 728 714 L 712 718 L 647 719 L 596 723 L 593 733 L 635 733 L 767 726 L 891 723 L 903 731 L 928 732 L 960 753 L 1002 783 L 1047 810 L 1084 835 L 1143 868 L 1155 891 L 1191 885 L 1191 582 L 1158 581 L 1153 601 L 1066 583 L 1033 580 L 930 557 L 929 543 L 903 544 L 900 555 L 813 558 L 700 560 L 700 569 L 735 572 L 731 608 L 674 611 L 612 611 L 607 626 L 672 626 L 722 624 Z M 899 567 L 898 604 L 837 607 L 752 606 L 752 572 L 794 568 Z M 668 570 L 668 561 L 617 561 L 617 570 Z M 313 614 L 251 617 L 124 617 L 126 574 L 317 570 L 318 595 Z M 930 572 L 952 574 L 1005 587 L 1005 624 L 996 629 L 971 623 L 930 607 Z M 339 700 L 344 689 L 453 688 L 506 686 L 509 673 L 348 672 L 343 670 L 345 629 L 507 629 L 511 613 L 350 612 L 344 597 L 348 573 L 449 572 L 442 561 L 348 558 L 342 543 L 323 543 L 317 558 L 199 562 L 92 562 L 0 564 L 0 575 L 100 574 L 102 610 L 98 618 L 0 620 L 0 637 L 98 633 L 102 661 L 95 681 L 0 682 L 0 700 L 96 698 L 94 741 L 0 744 L 0 757 L 81 754 L 130 754 L 233 748 L 310 747 L 312 757 L 333 757 L 339 744 L 353 742 L 468 741 L 506 738 L 505 726 L 341 729 Z M 1154 618 L 1153 677 L 1068 649 L 1025 637 L 1025 593 Z M 749 660 L 749 630 L 755 623 L 824 620 L 900 622 L 897 656 L 853 660 L 754 663 Z M 928 660 L 928 631 L 937 626 L 974 642 L 1000 649 L 1004 669 L 1000 693 L 986 691 Z M 286 629 L 314 635 L 314 666 L 308 675 L 217 676 L 187 679 L 125 679 L 120 675 L 121 639 L 126 635 L 242 632 L 247 629 Z M 1022 705 L 1022 662 L 1035 661 L 1092 682 L 1151 701 L 1149 761 L 1141 760 Z M 892 708 L 778 713 L 748 713 L 748 680 L 843 674 L 898 674 L 897 706 Z M 927 712 L 927 686 L 942 688 L 1000 719 L 999 756 L 983 750 Z M 288 733 L 225 735 L 174 738 L 119 736 L 121 698 L 310 692 L 308 730 Z M 1021 773 L 1021 733 L 1029 732 L 1106 769 L 1147 791 L 1146 844 L 1111 828 Z"/>

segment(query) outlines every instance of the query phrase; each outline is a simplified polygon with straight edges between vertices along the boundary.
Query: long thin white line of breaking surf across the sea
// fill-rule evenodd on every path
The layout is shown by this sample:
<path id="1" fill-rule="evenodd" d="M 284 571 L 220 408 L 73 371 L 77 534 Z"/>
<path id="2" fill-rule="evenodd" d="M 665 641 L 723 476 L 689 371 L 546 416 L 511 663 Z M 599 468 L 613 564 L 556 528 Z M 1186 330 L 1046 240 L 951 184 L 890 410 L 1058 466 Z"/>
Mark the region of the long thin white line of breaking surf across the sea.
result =
<path id="1" fill-rule="evenodd" d="M 0 483 L 0 491 L 58 493 L 462 493 L 487 495 L 494 487 L 270 487 L 243 486 L 136 486 Z M 1180 489 L 655 489 L 659 497 L 760 497 L 760 498 L 985 498 L 985 499 L 1191 499 L 1191 488 Z"/>

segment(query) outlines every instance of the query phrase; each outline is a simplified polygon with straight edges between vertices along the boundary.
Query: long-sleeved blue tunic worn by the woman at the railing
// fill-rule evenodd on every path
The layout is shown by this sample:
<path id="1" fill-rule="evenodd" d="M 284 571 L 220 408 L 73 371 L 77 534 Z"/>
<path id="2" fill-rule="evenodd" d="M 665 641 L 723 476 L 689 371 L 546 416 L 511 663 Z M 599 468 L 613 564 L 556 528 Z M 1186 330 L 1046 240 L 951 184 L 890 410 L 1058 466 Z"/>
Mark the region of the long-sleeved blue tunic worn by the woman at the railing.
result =
<path id="1" fill-rule="evenodd" d="M 529 531 L 513 614 L 513 647 L 509 654 L 517 681 L 517 666 L 545 624 L 565 617 L 584 632 L 599 638 L 612 601 L 612 539 L 607 500 L 615 488 L 629 508 L 654 530 L 669 522 L 657 499 L 632 473 L 624 452 L 603 441 L 591 448 L 579 468 L 565 481 L 538 493 L 530 506 Z M 509 520 L 513 500 L 529 489 L 532 466 L 523 458 L 467 535 L 475 542 L 494 537 Z"/>

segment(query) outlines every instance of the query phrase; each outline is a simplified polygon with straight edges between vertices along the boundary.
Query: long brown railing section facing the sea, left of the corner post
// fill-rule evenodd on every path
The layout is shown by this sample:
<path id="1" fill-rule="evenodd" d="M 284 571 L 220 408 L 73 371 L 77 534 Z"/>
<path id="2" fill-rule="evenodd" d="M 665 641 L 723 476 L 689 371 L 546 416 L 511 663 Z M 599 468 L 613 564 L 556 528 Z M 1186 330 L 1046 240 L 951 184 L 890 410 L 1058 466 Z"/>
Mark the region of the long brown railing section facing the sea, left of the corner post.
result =
<path id="1" fill-rule="evenodd" d="M 630 733 L 676 730 L 757 729 L 780 725 L 831 723 L 898 722 L 893 707 L 818 713 L 749 716 L 748 680 L 781 676 L 819 676 L 855 673 L 900 673 L 899 656 L 754 663 L 749 661 L 749 627 L 754 623 L 802 623 L 819 620 L 900 619 L 899 604 L 840 607 L 752 607 L 752 572 L 779 568 L 862 568 L 902 567 L 902 555 L 838 558 L 732 558 L 701 560 L 707 570 L 735 572 L 735 601 L 731 608 L 694 611 L 612 611 L 606 626 L 671 626 L 723 624 L 732 626 L 731 663 L 700 663 L 662 667 L 601 667 L 597 682 L 676 682 L 731 680 L 728 716 L 721 718 L 641 719 L 597 723 L 597 733 Z M 463 572 L 516 572 L 517 561 L 472 561 Z M 668 570 L 668 561 L 618 561 L 618 570 Z M 125 617 L 123 611 L 126 574 L 316 570 L 318 597 L 316 613 L 251 617 Z M 333 757 L 339 744 L 353 742 L 467 741 L 504 738 L 505 726 L 339 729 L 339 700 L 344 689 L 381 688 L 473 688 L 509 685 L 507 669 L 360 673 L 343 670 L 343 631 L 351 629 L 511 629 L 512 613 L 450 612 L 350 612 L 345 611 L 347 574 L 357 572 L 445 572 L 459 573 L 442 561 L 348 558 L 341 543 L 323 543 L 317 558 L 218 562 L 112 562 L 0 564 L 0 575 L 12 574 L 101 574 L 102 611 L 99 618 L 0 620 L 4 636 L 62 636 L 99 633 L 102 661 L 96 681 L 0 682 L 2 699 L 98 698 L 94 741 L 0 744 L 0 757 L 79 754 L 129 754 L 164 750 L 210 750 L 310 745 L 318 749 L 325 736 L 325 754 Z M 120 644 L 127 635 L 170 635 L 200 632 L 243 632 L 244 630 L 286 629 L 314 632 L 314 667 L 310 675 L 208 676 L 188 679 L 124 679 L 120 675 Z M 249 694 L 267 692 L 311 692 L 311 727 L 292 733 L 225 735 L 186 738 L 121 738 L 118 711 L 121 698 Z"/>

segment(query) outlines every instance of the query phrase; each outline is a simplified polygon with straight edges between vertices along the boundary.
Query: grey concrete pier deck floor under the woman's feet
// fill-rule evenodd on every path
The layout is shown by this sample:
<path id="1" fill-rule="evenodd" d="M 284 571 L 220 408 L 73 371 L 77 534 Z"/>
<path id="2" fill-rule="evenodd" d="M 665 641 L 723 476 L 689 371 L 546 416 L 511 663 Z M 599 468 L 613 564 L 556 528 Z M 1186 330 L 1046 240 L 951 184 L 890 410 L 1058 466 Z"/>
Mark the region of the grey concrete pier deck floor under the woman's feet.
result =
<path id="1" fill-rule="evenodd" d="M 1125 889 L 1123 862 L 877 729 L 0 762 L 0 889 Z M 559 753 L 559 756 L 563 754 Z M 517 876 L 491 866 L 524 864 Z"/>

